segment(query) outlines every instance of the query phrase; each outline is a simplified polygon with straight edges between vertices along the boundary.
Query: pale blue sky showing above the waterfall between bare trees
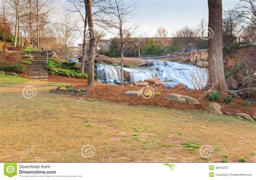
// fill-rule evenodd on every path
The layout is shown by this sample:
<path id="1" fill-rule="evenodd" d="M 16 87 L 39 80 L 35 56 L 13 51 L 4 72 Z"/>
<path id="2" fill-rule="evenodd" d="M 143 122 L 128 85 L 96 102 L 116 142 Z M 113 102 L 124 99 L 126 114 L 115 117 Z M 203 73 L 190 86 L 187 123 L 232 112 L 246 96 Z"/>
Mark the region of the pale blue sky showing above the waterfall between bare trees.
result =
<path id="1" fill-rule="evenodd" d="M 135 1 L 135 0 L 124 0 Z M 233 8 L 239 0 L 223 0 L 223 10 Z M 60 0 L 65 4 L 66 0 Z M 59 11 L 62 6 L 59 6 Z M 135 36 L 153 37 L 159 27 L 168 31 L 168 36 L 184 26 L 195 27 L 200 19 L 208 19 L 207 0 L 139 0 L 139 5 L 134 12 L 133 20 L 139 23 Z M 76 17 L 79 18 L 79 17 Z M 105 39 L 116 36 L 115 33 L 106 32 Z M 81 43 L 82 37 L 76 40 Z"/>

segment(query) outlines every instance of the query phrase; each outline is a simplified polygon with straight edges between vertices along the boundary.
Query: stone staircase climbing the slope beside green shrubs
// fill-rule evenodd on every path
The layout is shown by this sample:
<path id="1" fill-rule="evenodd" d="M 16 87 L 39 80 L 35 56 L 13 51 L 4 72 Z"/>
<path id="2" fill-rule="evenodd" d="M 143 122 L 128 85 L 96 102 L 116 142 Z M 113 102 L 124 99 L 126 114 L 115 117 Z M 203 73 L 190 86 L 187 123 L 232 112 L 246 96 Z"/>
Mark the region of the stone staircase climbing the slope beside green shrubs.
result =
<path id="1" fill-rule="evenodd" d="M 36 79 L 47 79 L 48 72 L 46 66 L 47 57 L 44 54 L 32 54 L 33 56 L 33 64 L 30 67 L 29 75 L 31 78 Z"/>

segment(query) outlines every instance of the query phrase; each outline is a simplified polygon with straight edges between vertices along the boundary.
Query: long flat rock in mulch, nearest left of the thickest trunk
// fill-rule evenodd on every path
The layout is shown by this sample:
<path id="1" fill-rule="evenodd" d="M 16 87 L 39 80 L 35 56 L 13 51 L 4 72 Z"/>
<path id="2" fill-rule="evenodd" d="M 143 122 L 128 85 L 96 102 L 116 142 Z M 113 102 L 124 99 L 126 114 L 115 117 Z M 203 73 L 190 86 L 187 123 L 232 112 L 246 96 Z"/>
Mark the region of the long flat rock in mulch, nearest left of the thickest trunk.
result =
<path id="1" fill-rule="evenodd" d="M 178 103 L 186 103 L 186 104 L 192 104 L 192 105 L 198 105 L 199 101 L 187 96 L 187 95 L 180 95 L 180 94 L 169 94 L 165 96 L 165 99 L 175 101 Z"/>

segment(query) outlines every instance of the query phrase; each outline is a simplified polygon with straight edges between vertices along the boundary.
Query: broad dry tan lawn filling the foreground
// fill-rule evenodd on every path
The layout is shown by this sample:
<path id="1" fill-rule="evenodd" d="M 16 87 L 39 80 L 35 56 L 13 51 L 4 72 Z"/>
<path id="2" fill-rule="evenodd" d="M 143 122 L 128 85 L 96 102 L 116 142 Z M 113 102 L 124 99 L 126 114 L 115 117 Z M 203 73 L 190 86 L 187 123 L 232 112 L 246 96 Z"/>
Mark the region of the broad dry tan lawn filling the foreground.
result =
<path id="1" fill-rule="evenodd" d="M 21 82 L 0 88 L 0 162 L 255 162 L 255 123 L 93 99 L 77 103 L 49 92 L 59 84 Z M 25 86 L 35 86 L 35 98 L 23 97 Z M 87 144 L 95 156 L 82 156 Z M 211 157 L 200 156 L 204 145 L 213 147 Z"/>

